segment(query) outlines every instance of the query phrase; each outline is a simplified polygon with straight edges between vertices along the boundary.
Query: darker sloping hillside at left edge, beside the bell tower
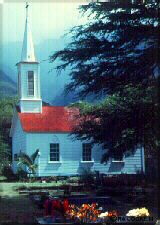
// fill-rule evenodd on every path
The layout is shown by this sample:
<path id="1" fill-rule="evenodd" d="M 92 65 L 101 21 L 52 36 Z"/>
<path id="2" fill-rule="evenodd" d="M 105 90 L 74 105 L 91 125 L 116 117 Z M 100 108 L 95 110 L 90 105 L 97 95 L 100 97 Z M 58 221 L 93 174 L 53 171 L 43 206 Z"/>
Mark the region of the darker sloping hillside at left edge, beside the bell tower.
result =
<path id="1" fill-rule="evenodd" d="M 0 70 L 0 98 L 15 96 L 17 93 L 16 83 L 2 70 Z"/>

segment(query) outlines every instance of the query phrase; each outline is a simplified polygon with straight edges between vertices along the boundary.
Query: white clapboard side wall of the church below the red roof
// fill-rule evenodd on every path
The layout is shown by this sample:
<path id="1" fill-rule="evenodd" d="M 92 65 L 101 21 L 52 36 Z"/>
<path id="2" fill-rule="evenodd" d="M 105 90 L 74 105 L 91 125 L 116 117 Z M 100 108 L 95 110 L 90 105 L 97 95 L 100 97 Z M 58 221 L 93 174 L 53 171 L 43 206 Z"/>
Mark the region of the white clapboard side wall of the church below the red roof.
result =
<path id="1" fill-rule="evenodd" d="M 82 142 L 73 140 L 66 133 L 27 133 L 26 150 L 29 155 L 39 149 L 40 156 L 37 159 L 39 176 L 74 175 L 80 174 L 83 168 L 90 168 L 106 174 L 136 173 L 141 170 L 141 150 L 138 149 L 134 156 L 125 158 L 125 163 L 108 162 L 101 164 L 103 150 L 95 145 L 92 151 L 93 162 L 81 162 Z M 60 144 L 60 162 L 49 162 L 50 143 Z"/>

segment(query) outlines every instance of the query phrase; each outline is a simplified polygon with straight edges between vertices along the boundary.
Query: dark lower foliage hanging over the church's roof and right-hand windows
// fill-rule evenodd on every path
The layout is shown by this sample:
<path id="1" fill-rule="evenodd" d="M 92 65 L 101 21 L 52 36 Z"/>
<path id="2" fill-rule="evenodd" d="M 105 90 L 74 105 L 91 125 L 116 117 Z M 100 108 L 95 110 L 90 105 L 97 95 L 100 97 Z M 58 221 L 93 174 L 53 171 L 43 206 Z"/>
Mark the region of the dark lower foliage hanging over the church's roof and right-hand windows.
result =
<path id="1" fill-rule="evenodd" d="M 109 157 L 122 159 L 134 153 L 135 146 L 148 145 L 157 148 L 155 127 L 157 110 L 151 98 L 151 89 L 140 86 L 125 89 L 124 96 L 110 95 L 96 105 L 79 103 L 79 126 L 74 130 L 78 139 L 92 140 L 108 149 L 102 161 Z M 154 96 L 152 96 L 154 97 Z M 118 152 L 118 154 L 117 154 Z"/>

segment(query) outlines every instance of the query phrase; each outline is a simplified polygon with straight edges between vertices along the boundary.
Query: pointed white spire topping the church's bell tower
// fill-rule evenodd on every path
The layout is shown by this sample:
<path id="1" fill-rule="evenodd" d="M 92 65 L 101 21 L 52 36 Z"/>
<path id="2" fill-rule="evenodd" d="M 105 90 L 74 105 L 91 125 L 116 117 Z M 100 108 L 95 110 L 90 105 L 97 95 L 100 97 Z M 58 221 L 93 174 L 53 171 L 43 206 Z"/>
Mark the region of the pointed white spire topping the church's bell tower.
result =
<path id="1" fill-rule="evenodd" d="M 28 16 L 28 7 L 29 4 L 26 2 L 26 25 L 24 31 L 23 38 L 23 47 L 22 47 L 22 62 L 36 62 L 35 54 L 34 54 L 34 46 L 32 41 L 32 33 L 29 24 L 29 16 Z"/>

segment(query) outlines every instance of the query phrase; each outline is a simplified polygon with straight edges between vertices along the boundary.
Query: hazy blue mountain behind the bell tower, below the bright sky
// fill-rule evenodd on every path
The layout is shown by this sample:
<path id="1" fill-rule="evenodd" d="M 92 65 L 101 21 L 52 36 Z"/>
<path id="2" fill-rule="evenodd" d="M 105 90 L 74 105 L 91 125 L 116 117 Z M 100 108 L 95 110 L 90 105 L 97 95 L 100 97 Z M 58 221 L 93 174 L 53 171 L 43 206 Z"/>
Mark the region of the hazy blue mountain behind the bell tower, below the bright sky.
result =
<path id="1" fill-rule="evenodd" d="M 49 63 L 49 56 L 55 51 L 63 49 L 66 42 L 70 40 L 59 39 L 46 39 L 38 44 L 34 44 L 35 55 L 40 62 L 40 79 L 41 79 L 41 95 L 42 99 L 47 102 L 52 102 L 57 95 L 61 95 L 64 90 L 64 85 L 68 83 L 68 74 L 70 71 L 63 71 L 62 76 L 57 76 L 57 71 L 54 69 L 58 64 Z M 13 81 L 17 79 L 17 62 L 20 61 L 22 42 L 9 42 L 1 45 L 3 50 L 3 57 L 0 62 L 0 69 L 7 74 Z"/>

